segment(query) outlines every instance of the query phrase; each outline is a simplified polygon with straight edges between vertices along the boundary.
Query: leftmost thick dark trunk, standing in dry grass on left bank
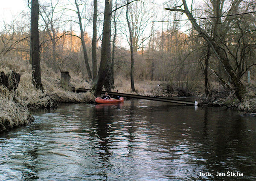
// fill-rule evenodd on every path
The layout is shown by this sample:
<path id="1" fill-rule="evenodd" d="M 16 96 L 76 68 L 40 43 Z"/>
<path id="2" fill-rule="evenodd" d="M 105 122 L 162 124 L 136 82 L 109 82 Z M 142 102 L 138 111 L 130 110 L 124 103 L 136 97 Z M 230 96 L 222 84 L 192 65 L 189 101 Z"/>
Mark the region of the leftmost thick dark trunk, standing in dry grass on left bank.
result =
<path id="1" fill-rule="evenodd" d="M 30 60 L 32 63 L 32 83 L 36 89 L 43 91 L 40 67 L 40 46 L 38 32 L 39 3 L 38 0 L 31 0 L 31 36 L 30 36 Z"/>

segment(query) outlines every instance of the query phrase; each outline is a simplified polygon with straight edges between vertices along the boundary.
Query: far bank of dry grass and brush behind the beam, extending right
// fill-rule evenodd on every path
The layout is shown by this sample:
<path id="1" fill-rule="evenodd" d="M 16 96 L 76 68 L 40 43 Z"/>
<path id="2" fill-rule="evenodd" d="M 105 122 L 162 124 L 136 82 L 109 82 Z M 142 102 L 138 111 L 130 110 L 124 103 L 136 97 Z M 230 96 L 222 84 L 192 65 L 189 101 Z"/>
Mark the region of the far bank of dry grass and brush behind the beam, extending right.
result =
<path id="1" fill-rule="evenodd" d="M 203 83 L 201 83 L 203 85 Z M 119 92 L 131 93 L 131 84 L 129 80 L 118 78 L 115 82 L 116 89 Z M 219 83 L 212 83 L 212 89 L 209 91 L 209 97 L 206 98 L 204 87 L 198 85 L 180 85 L 174 86 L 168 82 L 161 81 L 136 81 L 135 89 L 139 95 L 155 96 L 155 97 L 197 97 L 199 103 L 218 103 L 225 104 L 227 107 L 237 109 L 246 113 L 256 113 L 256 84 L 252 82 L 246 85 L 247 93 L 244 101 L 241 103 L 235 96 L 235 92 L 224 89 Z"/>

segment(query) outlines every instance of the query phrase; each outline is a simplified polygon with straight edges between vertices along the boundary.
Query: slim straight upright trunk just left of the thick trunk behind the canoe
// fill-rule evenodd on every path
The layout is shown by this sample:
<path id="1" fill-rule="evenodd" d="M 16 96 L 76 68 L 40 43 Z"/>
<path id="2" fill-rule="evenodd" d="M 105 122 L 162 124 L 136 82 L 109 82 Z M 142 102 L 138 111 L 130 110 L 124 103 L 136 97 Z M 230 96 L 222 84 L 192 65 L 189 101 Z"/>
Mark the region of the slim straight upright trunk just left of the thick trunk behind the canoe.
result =
<path id="1" fill-rule="evenodd" d="M 97 0 L 93 0 L 93 39 L 92 39 L 92 60 L 93 60 L 93 82 L 97 78 L 97 57 L 96 57 L 96 41 L 97 41 Z"/>

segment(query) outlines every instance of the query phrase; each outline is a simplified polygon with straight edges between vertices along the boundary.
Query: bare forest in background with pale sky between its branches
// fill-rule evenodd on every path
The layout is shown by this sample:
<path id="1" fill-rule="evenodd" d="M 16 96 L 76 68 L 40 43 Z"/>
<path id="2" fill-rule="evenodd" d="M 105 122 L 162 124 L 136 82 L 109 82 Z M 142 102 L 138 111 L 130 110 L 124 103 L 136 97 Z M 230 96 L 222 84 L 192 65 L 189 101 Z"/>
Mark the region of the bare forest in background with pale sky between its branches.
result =
<path id="1" fill-rule="evenodd" d="M 111 1 L 105 3 L 108 2 Z M 154 0 L 111 2 L 112 10 L 116 9 L 111 13 L 111 88 L 118 87 L 118 83 L 130 84 L 131 49 L 134 82 L 159 81 L 170 93 L 183 89 L 191 95 L 204 93 L 206 98 L 222 90 L 234 93 L 237 88 L 234 80 L 247 85 L 248 71 L 250 81 L 254 81 L 256 6 L 253 0 L 190 2 L 192 18 L 207 37 L 215 41 L 220 51 L 217 54 L 209 40 L 189 22 L 192 18 L 184 16 L 187 14 L 182 9 L 184 2 L 166 1 L 163 3 L 166 9 L 159 9 Z M 61 71 L 69 71 L 72 77 L 86 80 L 87 86 L 91 86 L 93 69 L 98 72 L 101 60 L 104 2 L 42 0 L 39 5 L 42 75 L 59 78 Z M 93 47 L 95 20 L 96 46 Z M 24 11 L 11 23 L 3 22 L 0 39 L 0 66 L 17 69 L 20 64 L 29 68 L 29 14 Z M 228 66 L 219 55 L 227 59 Z M 126 83 L 122 85 L 122 81 Z M 135 86 L 135 90 L 139 88 Z"/>

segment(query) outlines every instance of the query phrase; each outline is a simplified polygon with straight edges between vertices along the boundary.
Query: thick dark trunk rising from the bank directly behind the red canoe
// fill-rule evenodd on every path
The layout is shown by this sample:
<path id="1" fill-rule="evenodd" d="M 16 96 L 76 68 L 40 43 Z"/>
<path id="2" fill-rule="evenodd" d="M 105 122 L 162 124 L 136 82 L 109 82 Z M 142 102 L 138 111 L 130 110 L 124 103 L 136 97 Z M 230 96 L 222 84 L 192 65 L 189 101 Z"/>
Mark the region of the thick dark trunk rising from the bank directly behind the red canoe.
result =
<path id="1" fill-rule="evenodd" d="M 103 34 L 102 34 L 102 53 L 98 72 L 98 80 L 93 86 L 92 90 L 95 91 L 96 96 L 100 95 L 102 92 L 102 86 L 104 84 L 105 78 L 108 74 L 108 64 L 110 62 L 111 54 L 111 10 L 112 1 L 105 0 L 105 10 L 104 10 L 104 23 L 103 23 Z"/>

